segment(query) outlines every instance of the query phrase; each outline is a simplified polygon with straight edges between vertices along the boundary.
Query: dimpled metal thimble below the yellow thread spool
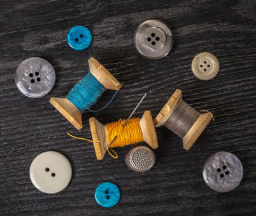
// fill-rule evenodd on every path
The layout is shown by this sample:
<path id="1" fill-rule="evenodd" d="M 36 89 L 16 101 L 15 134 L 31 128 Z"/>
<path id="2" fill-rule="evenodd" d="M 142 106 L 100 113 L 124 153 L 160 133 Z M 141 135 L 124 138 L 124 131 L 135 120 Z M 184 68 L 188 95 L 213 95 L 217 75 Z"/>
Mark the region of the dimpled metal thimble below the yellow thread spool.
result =
<path id="1" fill-rule="evenodd" d="M 150 170 L 156 162 L 154 152 L 146 146 L 133 147 L 125 156 L 126 165 L 135 172 Z"/>

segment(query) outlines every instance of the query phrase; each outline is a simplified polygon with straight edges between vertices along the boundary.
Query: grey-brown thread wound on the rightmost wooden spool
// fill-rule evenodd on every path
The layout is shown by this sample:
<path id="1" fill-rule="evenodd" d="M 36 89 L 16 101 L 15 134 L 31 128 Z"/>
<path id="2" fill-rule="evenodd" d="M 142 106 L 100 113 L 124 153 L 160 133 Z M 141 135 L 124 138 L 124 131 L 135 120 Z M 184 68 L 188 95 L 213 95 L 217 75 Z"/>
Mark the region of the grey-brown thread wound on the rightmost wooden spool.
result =
<path id="1" fill-rule="evenodd" d="M 190 107 L 186 102 L 181 101 L 164 126 L 180 136 L 180 138 L 183 138 L 199 116 L 199 112 Z"/>

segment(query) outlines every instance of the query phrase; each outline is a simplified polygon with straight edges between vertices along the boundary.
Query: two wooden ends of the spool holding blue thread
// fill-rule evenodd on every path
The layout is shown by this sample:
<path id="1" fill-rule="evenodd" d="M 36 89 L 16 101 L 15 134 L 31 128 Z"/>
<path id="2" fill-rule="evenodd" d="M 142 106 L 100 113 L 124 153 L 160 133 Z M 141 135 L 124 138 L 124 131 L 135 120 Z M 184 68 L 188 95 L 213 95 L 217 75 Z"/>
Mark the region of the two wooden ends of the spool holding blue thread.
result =
<path id="1" fill-rule="evenodd" d="M 99 80 L 106 89 L 119 90 L 121 84 L 105 67 L 94 57 L 88 60 L 90 73 Z M 77 130 L 82 128 L 82 114 L 68 99 L 51 98 L 50 103 L 72 124 Z"/>

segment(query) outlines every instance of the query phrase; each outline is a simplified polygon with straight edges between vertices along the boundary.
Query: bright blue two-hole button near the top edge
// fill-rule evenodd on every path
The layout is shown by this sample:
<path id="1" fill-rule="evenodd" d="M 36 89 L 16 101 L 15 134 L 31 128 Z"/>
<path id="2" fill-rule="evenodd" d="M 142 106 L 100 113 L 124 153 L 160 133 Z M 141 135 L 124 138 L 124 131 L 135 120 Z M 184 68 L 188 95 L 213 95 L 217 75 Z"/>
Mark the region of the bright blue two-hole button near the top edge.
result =
<path id="1" fill-rule="evenodd" d="M 67 35 L 67 41 L 71 48 L 83 50 L 90 46 L 92 42 L 92 34 L 90 30 L 82 25 L 76 25 L 71 28 Z"/>

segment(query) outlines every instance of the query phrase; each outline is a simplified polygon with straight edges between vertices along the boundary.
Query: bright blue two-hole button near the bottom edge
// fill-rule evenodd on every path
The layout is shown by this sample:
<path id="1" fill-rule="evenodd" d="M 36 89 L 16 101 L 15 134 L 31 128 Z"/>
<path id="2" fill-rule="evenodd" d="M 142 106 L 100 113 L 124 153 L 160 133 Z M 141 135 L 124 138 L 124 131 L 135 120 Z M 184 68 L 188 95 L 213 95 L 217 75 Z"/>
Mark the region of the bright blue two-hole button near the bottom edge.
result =
<path id="1" fill-rule="evenodd" d="M 104 182 L 95 189 L 95 199 L 102 207 L 113 207 L 120 199 L 120 190 L 111 182 Z"/>

